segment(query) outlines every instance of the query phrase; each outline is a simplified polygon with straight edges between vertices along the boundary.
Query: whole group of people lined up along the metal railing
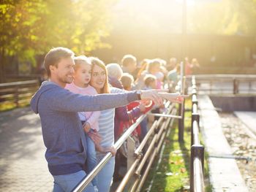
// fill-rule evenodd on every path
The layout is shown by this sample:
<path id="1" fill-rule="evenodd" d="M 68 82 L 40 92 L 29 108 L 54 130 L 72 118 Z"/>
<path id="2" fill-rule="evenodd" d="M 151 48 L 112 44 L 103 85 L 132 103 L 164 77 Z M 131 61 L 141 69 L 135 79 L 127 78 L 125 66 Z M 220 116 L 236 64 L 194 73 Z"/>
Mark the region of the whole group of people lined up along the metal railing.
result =
<path id="1" fill-rule="evenodd" d="M 110 152 L 113 157 L 84 190 L 109 191 L 115 140 L 143 112 L 162 109 L 159 92 L 165 91 L 162 81 L 168 73 L 164 61 L 144 60 L 138 68 L 136 58 L 125 55 L 121 66 L 105 66 L 99 58 L 56 47 L 45 55 L 44 66 L 48 80 L 32 97 L 31 109 L 41 119 L 53 191 L 72 191 Z M 170 101 L 183 99 L 173 96 Z M 145 119 L 138 130 L 140 140 L 147 129 Z"/>

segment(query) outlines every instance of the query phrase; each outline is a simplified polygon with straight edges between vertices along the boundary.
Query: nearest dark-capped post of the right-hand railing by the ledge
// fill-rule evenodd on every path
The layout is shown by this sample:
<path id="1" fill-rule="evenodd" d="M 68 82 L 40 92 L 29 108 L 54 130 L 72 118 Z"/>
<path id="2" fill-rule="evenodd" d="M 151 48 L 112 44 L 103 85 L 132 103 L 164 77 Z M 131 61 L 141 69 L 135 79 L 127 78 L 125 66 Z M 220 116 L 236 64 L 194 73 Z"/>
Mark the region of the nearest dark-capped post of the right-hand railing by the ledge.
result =
<path id="1" fill-rule="evenodd" d="M 204 147 L 203 145 L 192 145 L 190 155 L 190 192 L 194 191 L 194 158 L 199 158 L 202 164 L 202 170 L 204 166 Z"/>

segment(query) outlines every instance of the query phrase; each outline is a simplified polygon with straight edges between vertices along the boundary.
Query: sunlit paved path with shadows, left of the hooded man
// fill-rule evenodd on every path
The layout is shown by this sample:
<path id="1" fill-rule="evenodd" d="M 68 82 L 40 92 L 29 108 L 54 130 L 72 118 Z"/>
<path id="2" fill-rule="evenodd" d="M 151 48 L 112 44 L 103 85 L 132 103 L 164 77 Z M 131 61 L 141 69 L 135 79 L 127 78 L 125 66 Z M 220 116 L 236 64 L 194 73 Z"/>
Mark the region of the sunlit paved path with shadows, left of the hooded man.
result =
<path id="1" fill-rule="evenodd" d="M 52 191 L 39 116 L 28 108 L 0 113 L 0 191 Z"/>

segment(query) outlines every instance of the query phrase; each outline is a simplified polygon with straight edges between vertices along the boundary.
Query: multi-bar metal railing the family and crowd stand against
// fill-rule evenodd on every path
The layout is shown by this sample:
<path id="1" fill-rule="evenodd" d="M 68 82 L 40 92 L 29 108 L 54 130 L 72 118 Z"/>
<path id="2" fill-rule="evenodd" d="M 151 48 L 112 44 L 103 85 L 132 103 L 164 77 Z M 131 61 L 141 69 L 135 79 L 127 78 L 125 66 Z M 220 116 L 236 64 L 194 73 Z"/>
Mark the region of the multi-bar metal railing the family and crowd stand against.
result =
<path id="1" fill-rule="evenodd" d="M 154 121 L 153 125 L 146 134 L 146 137 L 144 137 L 143 141 L 140 143 L 138 148 L 133 150 L 134 154 L 128 155 L 127 158 L 132 158 L 132 160 L 129 161 L 132 161 L 133 163 L 129 166 L 129 169 L 125 174 L 124 179 L 121 181 L 116 191 L 124 191 L 124 188 L 127 187 L 127 184 L 130 182 L 131 179 L 134 180 L 133 185 L 130 186 L 131 191 L 140 191 L 140 188 L 142 188 L 143 183 L 146 180 L 148 171 L 151 167 L 151 164 L 153 163 L 154 158 L 159 152 L 162 142 L 164 141 L 165 134 L 167 132 L 167 126 L 170 124 L 170 120 L 172 120 L 172 123 L 174 120 L 174 118 L 167 118 L 165 117 L 165 115 L 176 115 L 175 104 L 170 104 L 170 101 L 167 101 L 165 103 L 165 107 L 167 107 L 168 109 L 167 112 L 165 112 L 163 116 L 159 118 L 159 120 Z M 146 115 L 147 114 L 141 115 L 140 118 L 138 118 L 138 120 L 136 120 L 136 122 L 132 124 L 132 126 L 130 126 L 127 129 L 127 131 L 124 132 L 124 134 L 118 139 L 118 141 L 113 146 L 116 150 L 118 150 L 118 148 L 121 147 L 121 145 L 123 145 L 123 143 L 127 139 L 129 139 L 129 135 L 132 134 L 133 131 L 135 131 L 135 128 L 137 128 L 137 126 L 140 124 L 143 118 L 146 117 Z M 151 137 L 153 137 L 153 139 L 151 139 Z M 149 140 L 150 145 L 148 146 L 146 153 L 143 155 L 142 150 L 144 147 L 146 147 L 146 144 L 148 144 Z M 102 160 L 99 162 L 99 164 L 97 164 L 97 166 L 91 171 L 91 173 L 88 174 L 87 177 L 73 189 L 73 191 L 83 191 L 83 189 L 85 189 L 86 186 L 89 185 L 91 180 L 94 179 L 94 177 L 99 173 L 103 166 L 105 166 L 105 164 L 108 163 L 111 157 L 112 154 L 107 153 L 105 157 L 102 158 Z M 147 162 L 148 158 L 150 159 L 149 162 Z M 143 175 L 141 175 L 141 171 L 143 169 L 143 166 L 145 165 L 147 165 L 146 169 L 143 172 Z M 134 175 L 135 178 L 132 178 L 132 176 Z"/>

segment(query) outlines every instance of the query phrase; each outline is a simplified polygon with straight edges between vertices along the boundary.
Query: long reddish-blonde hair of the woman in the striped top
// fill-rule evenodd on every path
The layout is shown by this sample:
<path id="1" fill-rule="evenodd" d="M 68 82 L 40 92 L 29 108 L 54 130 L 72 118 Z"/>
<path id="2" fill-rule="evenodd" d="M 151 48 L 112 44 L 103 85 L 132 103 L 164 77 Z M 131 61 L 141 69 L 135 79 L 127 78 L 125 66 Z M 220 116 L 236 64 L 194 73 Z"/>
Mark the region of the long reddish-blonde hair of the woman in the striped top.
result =
<path id="1" fill-rule="evenodd" d="M 100 93 L 110 93 L 110 86 L 108 85 L 108 71 L 106 69 L 104 62 L 101 61 L 99 58 L 95 58 L 95 57 L 89 57 L 89 59 L 91 61 L 91 72 L 94 71 L 94 66 L 99 66 L 105 71 L 105 74 L 106 74 L 104 86 L 101 89 Z"/>

